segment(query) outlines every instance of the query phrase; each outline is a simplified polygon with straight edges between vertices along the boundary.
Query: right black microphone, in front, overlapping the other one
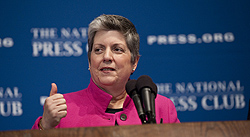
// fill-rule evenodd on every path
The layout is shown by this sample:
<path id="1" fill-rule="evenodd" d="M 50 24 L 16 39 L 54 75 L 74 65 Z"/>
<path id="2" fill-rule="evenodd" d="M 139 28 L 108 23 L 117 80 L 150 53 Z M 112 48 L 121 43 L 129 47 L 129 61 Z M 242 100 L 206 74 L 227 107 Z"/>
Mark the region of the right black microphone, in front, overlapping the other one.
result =
<path id="1" fill-rule="evenodd" d="M 156 123 L 155 120 L 155 97 L 157 86 L 147 75 L 142 75 L 137 79 L 136 88 L 141 95 L 148 123 Z"/>

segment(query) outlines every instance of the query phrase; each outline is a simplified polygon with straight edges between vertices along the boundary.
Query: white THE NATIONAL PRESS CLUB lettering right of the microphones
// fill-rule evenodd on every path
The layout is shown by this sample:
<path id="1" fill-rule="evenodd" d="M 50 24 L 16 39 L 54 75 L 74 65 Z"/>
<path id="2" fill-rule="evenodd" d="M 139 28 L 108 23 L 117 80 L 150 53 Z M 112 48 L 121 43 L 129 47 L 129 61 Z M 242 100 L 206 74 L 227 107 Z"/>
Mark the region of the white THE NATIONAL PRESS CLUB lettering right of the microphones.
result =
<path id="1" fill-rule="evenodd" d="M 157 83 L 158 93 L 168 96 L 177 111 L 243 109 L 246 106 L 244 86 L 237 81 L 204 81 Z M 201 98 L 198 102 L 197 98 Z"/>

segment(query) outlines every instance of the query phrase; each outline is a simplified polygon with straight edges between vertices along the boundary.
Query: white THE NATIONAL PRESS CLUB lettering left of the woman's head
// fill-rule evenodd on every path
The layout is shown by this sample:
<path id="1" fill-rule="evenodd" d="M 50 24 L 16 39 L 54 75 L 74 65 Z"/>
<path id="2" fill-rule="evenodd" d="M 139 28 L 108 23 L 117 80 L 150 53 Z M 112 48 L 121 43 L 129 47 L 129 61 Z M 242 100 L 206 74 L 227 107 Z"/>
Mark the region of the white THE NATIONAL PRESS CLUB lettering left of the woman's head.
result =
<path id="1" fill-rule="evenodd" d="M 34 57 L 81 56 L 87 43 L 87 28 L 32 28 Z"/>

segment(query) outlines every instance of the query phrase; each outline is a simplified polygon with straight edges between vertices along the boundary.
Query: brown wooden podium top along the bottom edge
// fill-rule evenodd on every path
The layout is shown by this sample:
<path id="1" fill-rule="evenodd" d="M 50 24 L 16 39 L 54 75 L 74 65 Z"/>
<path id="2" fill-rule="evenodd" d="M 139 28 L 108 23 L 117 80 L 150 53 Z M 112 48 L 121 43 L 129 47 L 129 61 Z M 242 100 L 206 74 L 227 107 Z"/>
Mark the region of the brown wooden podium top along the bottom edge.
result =
<path id="1" fill-rule="evenodd" d="M 250 121 L 2 131 L 0 137 L 250 137 Z"/>

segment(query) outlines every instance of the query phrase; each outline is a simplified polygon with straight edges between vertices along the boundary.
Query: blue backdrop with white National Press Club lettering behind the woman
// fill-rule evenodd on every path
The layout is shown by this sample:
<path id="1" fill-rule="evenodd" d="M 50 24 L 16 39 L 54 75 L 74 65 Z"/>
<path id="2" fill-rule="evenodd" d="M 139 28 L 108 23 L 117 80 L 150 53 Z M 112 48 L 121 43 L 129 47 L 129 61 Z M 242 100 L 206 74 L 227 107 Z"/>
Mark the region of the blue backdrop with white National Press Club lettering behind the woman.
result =
<path id="1" fill-rule="evenodd" d="M 1 1 L 0 130 L 30 129 L 55 82 L 88 86 L 88 24 L 130 19 L 141 38 L 137 79 L 149 75 L 181 122 L 246 120 L 250 99 L 250 2 Z"/>

